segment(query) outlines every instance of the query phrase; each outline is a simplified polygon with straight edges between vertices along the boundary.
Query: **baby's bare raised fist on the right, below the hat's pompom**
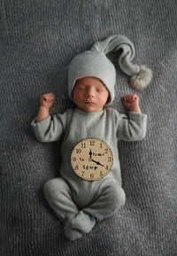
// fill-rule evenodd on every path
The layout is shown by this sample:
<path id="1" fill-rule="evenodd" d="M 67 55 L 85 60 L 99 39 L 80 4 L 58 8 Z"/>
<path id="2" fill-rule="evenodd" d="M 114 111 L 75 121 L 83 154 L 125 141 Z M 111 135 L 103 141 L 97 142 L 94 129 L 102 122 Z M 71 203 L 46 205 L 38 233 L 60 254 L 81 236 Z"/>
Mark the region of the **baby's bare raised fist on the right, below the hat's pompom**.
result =
<path id="1" fill-rule="evenodd" d="M 139 106 L 139 98 L 136 94 L 127 94 L 124 97 L 124 105 L 129 112 L 141 113 Z"/>

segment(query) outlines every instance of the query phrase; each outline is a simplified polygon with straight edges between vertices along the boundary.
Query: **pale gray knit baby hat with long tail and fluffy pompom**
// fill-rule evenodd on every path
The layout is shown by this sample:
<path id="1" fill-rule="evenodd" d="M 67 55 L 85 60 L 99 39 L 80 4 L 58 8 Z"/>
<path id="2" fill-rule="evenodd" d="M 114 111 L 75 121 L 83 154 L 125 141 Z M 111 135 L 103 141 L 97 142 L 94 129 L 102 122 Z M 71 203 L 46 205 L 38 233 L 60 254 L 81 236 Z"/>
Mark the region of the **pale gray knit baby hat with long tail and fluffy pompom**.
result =
<path id="1" fill-rule="evenodd" d="M 135 57 L 134 44 L 123 35 L 112 35 L 102 42 L 94 43 L 90 50 L 86 50 L 73 58 L 68 70 L 68 95 L 73 100 L 75 81 L 86 76 L 93 76 L 104 82 L 110 92 L 112 103 L 115 93 L 116 70 L 109 58 L 111 51 L 122 50 L 119 56 L 119 67 L 131 76 L 130 86 L 135 90 L 145 89 L 152 79 L 152 71 L 147 66 L 132 63 Z"/>

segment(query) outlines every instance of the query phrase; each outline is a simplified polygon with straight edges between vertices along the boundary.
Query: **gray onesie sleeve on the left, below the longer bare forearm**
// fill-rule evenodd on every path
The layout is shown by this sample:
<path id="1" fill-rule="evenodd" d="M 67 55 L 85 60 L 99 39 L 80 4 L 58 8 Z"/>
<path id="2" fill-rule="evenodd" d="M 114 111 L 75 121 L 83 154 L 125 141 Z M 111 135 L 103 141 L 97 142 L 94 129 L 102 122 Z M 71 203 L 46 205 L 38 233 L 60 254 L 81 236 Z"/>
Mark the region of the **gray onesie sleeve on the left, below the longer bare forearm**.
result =
<path id="1" fill-rule="evenodd" d="M 63 136 L 67 118 L 68 111 L 65 111 L 64 113 L 58 113 L 53 116 L 50 115 L 40 122 L 33 120 L 31 127 L 40 142 L 55 142 Z"/>

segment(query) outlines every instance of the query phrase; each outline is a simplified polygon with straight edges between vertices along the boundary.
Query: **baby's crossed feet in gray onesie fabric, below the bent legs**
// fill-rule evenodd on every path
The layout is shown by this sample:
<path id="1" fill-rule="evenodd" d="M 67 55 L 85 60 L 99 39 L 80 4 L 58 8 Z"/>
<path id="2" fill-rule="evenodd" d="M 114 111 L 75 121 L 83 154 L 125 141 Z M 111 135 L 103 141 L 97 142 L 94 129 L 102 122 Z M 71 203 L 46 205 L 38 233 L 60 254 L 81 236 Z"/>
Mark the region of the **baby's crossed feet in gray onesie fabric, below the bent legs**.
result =
<path id="1" fill-rule="evenodd" d="M 95 218 L 88 213 L 80 211 L 72 221 L 68 221 L 65 224 L 65 237 L 69 240 L 76 240 L 83 236 L 85 233 L 89 233 L 96 224 Z"/>

